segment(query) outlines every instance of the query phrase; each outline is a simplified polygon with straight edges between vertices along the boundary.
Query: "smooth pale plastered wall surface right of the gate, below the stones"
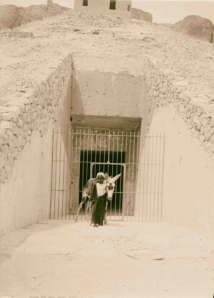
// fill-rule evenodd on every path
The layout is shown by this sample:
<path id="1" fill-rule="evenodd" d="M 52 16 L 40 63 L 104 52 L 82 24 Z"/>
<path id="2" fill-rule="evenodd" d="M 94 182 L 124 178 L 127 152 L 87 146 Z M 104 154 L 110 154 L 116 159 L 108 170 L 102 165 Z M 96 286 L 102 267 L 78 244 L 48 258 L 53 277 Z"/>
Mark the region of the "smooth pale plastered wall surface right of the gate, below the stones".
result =
<path id="1" fill-rule="evenodd" d="M 154 112 L 157 127 L 165 132 L 162 221 L 214 232 L 214 162 L 172 106 Z"/>

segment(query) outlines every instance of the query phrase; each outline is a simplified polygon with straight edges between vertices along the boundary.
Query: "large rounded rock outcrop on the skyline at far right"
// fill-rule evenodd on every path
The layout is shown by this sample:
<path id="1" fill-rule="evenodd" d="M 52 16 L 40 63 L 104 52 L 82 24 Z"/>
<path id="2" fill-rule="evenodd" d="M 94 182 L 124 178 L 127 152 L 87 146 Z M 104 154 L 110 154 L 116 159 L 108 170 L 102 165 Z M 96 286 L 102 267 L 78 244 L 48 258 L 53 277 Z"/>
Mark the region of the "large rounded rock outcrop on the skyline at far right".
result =
<path id="1" fill-rule="evenodd" d="M 201 18 L 199 15 L 188 15 L 182 21 L 174 24 L 173 29 L 191 37 L 213 42 L 212 22 L 206 18 Z"/>

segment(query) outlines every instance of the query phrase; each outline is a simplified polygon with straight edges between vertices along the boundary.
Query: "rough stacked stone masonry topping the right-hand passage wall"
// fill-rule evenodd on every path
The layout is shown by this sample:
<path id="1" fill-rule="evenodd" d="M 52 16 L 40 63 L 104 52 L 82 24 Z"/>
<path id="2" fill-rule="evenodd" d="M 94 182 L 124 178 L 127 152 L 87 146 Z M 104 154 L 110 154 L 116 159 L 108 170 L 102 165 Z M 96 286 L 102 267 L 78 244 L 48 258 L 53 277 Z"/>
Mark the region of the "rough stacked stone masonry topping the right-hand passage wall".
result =
<path id="1" fill-rule="evenodd" d="M 171 67 L 145 58 L 145 80 L 149 99 L 149 123 L 152 110 L 172 104 L 202 148 L 214 160 L 214 102 L 204 94 L 195 94 L 188 81 Z M 148 129 L 149 129 L 148 123 Z"/>

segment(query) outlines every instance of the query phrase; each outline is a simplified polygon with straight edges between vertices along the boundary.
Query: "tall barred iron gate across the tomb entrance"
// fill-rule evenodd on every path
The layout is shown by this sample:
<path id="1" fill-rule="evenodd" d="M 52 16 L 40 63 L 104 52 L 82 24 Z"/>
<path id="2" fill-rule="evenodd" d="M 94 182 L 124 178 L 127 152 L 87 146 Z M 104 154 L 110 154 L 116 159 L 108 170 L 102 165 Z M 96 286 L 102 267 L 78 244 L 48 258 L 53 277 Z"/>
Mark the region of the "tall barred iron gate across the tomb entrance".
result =
<path id="1" fill-rule="evenodd" d="M 74 219 L 85 183 L 107 172 L 121 173 L 107 220 L 161 221 L 164 141 L 164 134 L 136 131 L 54 131 L 50 218 Z"/>

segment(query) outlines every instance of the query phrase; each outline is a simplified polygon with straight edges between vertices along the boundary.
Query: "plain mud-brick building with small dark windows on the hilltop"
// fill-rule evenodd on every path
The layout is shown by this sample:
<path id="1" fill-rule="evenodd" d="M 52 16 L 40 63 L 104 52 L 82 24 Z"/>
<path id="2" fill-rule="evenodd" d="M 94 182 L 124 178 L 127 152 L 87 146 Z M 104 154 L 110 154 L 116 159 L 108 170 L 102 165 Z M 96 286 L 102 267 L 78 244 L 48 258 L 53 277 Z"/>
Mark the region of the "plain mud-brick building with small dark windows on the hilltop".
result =
<path id="1" fill-rule="evenodd" d="M 131 0 L 75 0 L 75 13 L 96 13 L 103 15 L 114 15 L 131 21 Z"/>

